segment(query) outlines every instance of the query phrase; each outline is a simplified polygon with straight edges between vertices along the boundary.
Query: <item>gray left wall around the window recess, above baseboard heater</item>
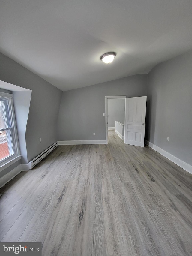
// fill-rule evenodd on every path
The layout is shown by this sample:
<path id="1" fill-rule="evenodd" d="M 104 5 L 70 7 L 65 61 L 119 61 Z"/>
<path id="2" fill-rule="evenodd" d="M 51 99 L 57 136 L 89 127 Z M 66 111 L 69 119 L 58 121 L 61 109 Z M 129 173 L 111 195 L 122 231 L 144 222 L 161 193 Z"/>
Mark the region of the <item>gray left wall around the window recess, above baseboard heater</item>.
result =
<path id="1" fill-rule="evenodd" d="M 30 161 L 57 141 L 56 125 L 62 91 L 2 53 L 0 80 L 32 90 L 26 129 L 26 148 Z"/>

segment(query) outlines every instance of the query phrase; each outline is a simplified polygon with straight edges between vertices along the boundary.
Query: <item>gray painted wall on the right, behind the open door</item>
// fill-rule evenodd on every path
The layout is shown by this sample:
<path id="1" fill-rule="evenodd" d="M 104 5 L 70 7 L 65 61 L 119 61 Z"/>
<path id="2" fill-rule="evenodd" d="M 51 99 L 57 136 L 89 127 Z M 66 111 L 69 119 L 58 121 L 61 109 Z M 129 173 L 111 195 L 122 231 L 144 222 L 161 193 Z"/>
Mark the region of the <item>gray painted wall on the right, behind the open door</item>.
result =
<path id="1" fill-rule="evenodd" d="M 146 139 L 192 165 L 192 51 L 148 75 Z M 169 137 L 169 141 L 167 141 Z"/>

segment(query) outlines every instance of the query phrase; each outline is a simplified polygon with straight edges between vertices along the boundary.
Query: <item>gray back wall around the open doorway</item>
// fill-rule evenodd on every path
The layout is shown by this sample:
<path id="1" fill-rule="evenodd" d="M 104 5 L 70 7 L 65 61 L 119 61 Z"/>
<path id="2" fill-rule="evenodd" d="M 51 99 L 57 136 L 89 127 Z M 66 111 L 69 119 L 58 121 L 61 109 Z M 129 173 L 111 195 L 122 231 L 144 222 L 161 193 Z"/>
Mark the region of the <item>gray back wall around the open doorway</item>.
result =
<path id="1" fill-rule="evenodd" d="M 146 93 L 146 74 L 63 92 L 58 140 L 105 140 L 105 96 L 137 97 Z"/>

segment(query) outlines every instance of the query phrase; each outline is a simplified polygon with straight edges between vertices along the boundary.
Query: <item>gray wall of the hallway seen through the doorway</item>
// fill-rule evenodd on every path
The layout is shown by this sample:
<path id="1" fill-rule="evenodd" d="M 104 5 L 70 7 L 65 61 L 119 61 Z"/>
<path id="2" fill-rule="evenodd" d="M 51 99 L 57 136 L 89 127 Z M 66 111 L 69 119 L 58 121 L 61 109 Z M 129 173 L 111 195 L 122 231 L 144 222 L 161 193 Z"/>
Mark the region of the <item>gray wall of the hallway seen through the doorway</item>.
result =
<path id="1" fill-rule="evenodd" d="M 108 127 L 115 127 L 115 122 L 125 122 L 125 100 L 108 99 Z"/>

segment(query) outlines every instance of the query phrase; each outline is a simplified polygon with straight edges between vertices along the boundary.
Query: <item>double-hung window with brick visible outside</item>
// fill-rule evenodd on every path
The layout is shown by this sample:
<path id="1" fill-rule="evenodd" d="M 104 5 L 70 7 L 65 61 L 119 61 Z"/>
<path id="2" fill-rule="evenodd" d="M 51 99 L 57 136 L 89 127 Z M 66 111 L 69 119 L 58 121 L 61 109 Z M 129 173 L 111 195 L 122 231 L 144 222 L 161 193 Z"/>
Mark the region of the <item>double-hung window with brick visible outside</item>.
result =
<path id="1" fill-rule="evenodd" d="M 13 95 L 0 92 L 0 166 L 19 154 Z"/>

